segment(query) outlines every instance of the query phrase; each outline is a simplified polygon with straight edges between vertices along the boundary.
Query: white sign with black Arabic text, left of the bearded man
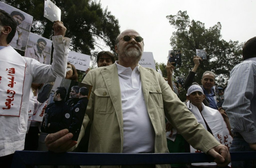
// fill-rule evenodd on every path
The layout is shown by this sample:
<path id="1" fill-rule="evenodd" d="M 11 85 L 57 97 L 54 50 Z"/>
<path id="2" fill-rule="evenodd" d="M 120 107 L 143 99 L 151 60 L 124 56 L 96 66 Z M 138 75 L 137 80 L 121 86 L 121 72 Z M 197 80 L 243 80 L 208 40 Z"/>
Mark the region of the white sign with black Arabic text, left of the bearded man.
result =
<path id="1" fill-rule="evenodd" d="M 75 69 L 86 71 L 90 67 L 91 57 L 86 54 L 76 53 L 74 51 L 69 51 L 67 56 L 67 62 L 73 64 Z"/>

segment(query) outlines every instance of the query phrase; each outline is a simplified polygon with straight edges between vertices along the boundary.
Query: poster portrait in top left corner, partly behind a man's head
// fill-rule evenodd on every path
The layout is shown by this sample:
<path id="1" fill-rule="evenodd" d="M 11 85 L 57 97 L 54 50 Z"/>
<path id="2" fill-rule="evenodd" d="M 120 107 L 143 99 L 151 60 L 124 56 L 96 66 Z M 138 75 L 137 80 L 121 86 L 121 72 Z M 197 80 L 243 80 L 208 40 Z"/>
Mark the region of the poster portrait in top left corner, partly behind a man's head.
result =
<path id="1" fill-rule="evenodd" d="M 0 2 L 0 9 L 10 14 L 17 23 L 16 33 L 9 45 L 13 48 L 25 51 L 27 41 L 29 40 L 29 32 L 31 30 L 33 16 L 3 2 Z"/>

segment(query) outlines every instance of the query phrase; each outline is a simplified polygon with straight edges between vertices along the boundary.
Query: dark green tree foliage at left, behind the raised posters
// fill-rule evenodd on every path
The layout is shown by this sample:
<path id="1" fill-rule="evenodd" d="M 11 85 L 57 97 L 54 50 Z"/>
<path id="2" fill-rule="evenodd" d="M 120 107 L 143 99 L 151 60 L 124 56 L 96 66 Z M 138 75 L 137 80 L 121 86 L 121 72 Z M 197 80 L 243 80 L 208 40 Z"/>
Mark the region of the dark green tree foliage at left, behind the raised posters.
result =
<path id="1" fill-rule="evenodd" d="M 53 23 L 43 17 L 43 0 L 1 0 L 33 16 L 32 33 L 51 39 Z M 66 37 L 71 39 L 70 50 L 87 54 L 95 63 L 101 50 L 114 51 L 120 26 L 111 12 L 101 7 L 97 0 L 52 0 L 61 13 L 61 21 L 67 28 Z M 107 47 L 107 49 L 106 49 Z M 98 49 L 95 51 L 95 49 Z"/>

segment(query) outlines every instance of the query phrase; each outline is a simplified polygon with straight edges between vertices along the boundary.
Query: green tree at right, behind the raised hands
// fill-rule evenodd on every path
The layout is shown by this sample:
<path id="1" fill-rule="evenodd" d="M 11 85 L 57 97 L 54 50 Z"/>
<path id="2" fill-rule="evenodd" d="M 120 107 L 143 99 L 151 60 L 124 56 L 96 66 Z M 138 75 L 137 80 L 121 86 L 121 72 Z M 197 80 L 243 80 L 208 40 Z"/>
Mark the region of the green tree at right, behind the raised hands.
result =
<path id="1" fill-rule="evenodd" d="M 206 29 L 204 23 L 190 21 L 186 11 L 178 11 L 176 15 L 169 15 L 166 18 L 176 29 L 170 38 L 170 45 L 173 49 L 182 50 L 182 66 L 174 70 L 174 75 L 183 76 L 185 79 L 193 67 L 188 64 L 193 64 L 195 49 L 205 49 L 207 60 L 200 63 L 195 81 L 201 84 L 203 72 L 213 71 L 217 74 L 216 85 L 226 85 L 230 71 L 234 65 L 242 61 L 242 44 L 221 39 L 219 22 Z"/>

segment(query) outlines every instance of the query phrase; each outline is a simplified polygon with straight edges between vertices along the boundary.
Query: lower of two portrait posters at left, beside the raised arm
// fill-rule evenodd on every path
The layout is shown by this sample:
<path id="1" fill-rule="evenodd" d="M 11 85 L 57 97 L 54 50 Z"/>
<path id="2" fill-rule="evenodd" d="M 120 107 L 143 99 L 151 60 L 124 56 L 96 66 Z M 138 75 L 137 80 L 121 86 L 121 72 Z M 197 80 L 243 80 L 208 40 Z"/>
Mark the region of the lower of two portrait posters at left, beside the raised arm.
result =
<path id="1" fill-rule="evenodd" d="M 25 57 L 34 58 L 42 64 L 50 65 L 51 40 L 30 33 L 25 51 Z"/>

